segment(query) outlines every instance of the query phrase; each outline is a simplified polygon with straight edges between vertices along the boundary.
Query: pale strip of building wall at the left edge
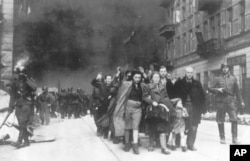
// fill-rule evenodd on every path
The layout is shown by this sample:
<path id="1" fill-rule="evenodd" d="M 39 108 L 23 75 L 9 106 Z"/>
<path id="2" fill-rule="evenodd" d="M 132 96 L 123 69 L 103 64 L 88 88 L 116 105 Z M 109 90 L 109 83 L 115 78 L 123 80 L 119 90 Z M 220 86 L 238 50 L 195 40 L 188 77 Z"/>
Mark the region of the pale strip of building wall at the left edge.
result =
<path id="1" fill-rule="evenodd" d="M 15 62 L 15 41 L 18 31 L 16 24 L 21 18 L 27 18 L 31 13 L 32 0 L 0 0 L 0 81 L 3 87 L 5 81 L 13 76 Z"/>

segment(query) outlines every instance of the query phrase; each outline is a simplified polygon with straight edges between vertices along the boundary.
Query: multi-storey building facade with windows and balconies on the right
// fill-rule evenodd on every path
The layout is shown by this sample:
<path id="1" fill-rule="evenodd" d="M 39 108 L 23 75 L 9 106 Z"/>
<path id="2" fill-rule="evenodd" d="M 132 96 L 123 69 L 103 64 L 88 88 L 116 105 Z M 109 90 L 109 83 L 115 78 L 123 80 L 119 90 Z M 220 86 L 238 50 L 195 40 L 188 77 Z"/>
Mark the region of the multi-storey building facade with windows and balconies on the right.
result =
<path id="1" fill-rule="evenodd" d="M 196 79 L 207 88 L 227 62 L 250 105 L 250 1 L 163 0 L 166 21 L 159 29 L 166 38 L 165 57 L 183 76 L 195 68 Z"/>

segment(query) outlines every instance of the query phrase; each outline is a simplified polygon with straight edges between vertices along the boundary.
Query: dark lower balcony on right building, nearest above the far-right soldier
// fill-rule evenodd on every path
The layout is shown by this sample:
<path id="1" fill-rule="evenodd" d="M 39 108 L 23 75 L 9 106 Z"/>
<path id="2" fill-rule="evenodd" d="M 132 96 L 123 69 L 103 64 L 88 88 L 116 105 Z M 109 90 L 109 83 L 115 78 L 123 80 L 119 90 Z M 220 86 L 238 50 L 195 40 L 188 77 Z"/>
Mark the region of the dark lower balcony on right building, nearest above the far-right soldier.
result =
<path id="1" fill-rule="evenodd" d="M 210 39 L 198 44 L 197 53 L 204 58 L 224 55 L 225 43 L 222 39 Z"/>

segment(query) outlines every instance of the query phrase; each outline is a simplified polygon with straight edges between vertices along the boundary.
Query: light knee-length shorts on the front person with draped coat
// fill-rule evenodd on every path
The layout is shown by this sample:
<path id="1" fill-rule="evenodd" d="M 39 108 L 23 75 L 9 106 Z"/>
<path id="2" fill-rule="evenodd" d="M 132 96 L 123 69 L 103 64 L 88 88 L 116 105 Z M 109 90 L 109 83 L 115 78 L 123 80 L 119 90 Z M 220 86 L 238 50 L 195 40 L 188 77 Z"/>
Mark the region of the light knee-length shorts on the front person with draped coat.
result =
<path id="1" fill-rule="evenodd" d="M 133 100 L 128 100 L 125 108 L 125 129 L 138 130 L 141 122 L 141 116 L 141 104 L 138 104 Z"/>

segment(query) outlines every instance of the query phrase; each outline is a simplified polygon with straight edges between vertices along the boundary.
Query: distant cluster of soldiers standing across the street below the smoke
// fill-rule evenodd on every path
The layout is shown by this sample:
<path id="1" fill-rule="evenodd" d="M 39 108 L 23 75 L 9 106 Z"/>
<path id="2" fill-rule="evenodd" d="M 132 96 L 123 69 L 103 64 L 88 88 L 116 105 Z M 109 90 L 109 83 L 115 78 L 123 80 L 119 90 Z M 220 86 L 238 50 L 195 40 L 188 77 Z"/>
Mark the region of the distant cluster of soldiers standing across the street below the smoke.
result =
<path id="1" fill-rule="evenodd" d="M 45 86 L 42 88 L 42 93 L 36 97 L 37 112 L 40 114 L 42 124 L 46 125 L 49 124 L 50 117 L 57 117 L 56 112 L 60 113 L 62 119 L 85 116 L 89 102 L 90 99 L 85 91 L 80 88 L 74 91 L 73 87 L 55 93 L 49 92 Z"/>

